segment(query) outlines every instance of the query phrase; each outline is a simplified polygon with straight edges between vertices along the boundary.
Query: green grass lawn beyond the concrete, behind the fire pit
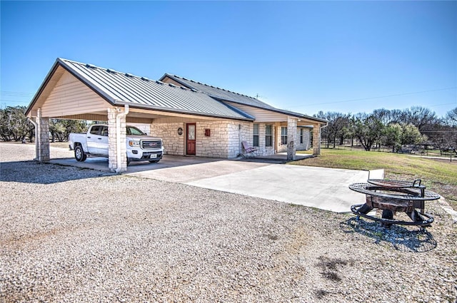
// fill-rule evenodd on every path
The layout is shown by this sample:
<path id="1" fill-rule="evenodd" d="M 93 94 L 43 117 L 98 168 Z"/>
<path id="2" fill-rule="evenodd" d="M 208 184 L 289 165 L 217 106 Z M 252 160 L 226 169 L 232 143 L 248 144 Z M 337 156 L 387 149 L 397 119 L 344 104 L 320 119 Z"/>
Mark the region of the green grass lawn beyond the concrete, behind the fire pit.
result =
<path id="1" fill-rule="evenodd" d="M 397 180 L 421 179 L 428 190 L 442 195 L 457 210 L 457 159 L 452 162 L 420 158 L 413 155 L 376 151 L 321 149 L 321 155 L 290 163 L 292 165 L 376 170 L 383 168 L 386 178 Z"/>

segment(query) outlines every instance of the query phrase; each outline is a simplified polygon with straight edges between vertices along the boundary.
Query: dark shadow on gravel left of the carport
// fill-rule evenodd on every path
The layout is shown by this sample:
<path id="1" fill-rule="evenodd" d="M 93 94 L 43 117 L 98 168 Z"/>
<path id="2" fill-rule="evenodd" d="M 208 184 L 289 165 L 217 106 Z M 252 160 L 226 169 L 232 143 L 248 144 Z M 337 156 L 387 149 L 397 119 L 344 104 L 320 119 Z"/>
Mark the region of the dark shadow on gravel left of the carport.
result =
<path id="1" fill-rule="evenodd" d="M 35 161 L 0 163 L 1 182 L 52 184 L 69 180 L 99 178 L 106 175 L 115 174 L 86 168 L 37 163 Z"/>

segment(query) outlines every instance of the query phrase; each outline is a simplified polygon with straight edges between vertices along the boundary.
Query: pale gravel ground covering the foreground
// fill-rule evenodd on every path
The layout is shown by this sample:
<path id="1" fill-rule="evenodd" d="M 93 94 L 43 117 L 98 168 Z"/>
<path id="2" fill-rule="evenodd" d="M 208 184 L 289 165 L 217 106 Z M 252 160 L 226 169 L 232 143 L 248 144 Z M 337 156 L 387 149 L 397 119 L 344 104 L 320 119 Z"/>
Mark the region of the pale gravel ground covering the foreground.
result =
<path id="1" fill-rule="evenodd" d="M 457 302 L 457 225 L 439 203 L 426 231 L 386 230 L 31 158 L 0 143 L 0 302 Z"/>

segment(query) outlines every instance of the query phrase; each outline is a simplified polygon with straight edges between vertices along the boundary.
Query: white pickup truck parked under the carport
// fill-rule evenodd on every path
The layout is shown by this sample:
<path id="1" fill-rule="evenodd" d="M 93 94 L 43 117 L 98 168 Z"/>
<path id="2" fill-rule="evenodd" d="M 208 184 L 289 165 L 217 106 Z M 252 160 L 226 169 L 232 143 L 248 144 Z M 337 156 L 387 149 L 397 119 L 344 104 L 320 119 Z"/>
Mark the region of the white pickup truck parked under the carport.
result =
<path id="1" fill-rule="evenodd" d="M 161 138 L 150 137 L 134 126 L 127 125 L 126 144 L 127 164 L 132 160 L 156 163 L 164 154 Z M 70 133 L 69 147 L 77 161 L 84 161 L 87 156 L 108 157 L 108 125 L 94 124 L 87 133 Z"/>

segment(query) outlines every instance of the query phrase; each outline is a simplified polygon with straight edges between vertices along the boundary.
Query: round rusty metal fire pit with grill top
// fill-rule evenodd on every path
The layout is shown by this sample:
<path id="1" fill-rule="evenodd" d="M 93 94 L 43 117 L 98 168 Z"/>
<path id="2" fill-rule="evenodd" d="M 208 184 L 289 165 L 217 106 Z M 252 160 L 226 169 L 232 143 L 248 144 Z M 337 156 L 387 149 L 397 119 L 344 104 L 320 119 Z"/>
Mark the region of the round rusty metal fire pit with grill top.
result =
<path id="1" fill-rule="evenodd" d="M 384 227 L 393 224 L 429 226 L 433 217 L 425 213 L 425 201 L 438 200 L 441 196 L 421 185 L 421 180 L 370 179 L 368 183 L 349 185 L 351 190 L 366 195 L 365 204 L 351 206 L 351 211 L 361 217 L 381 222 Z M 382 210 L 382 217 L 368 215 L 373 209 Z M 418 212 L 418 210 L 421 210 Z M 396 212 L 406 212 L 412 221 L 394 220 Z"/>

